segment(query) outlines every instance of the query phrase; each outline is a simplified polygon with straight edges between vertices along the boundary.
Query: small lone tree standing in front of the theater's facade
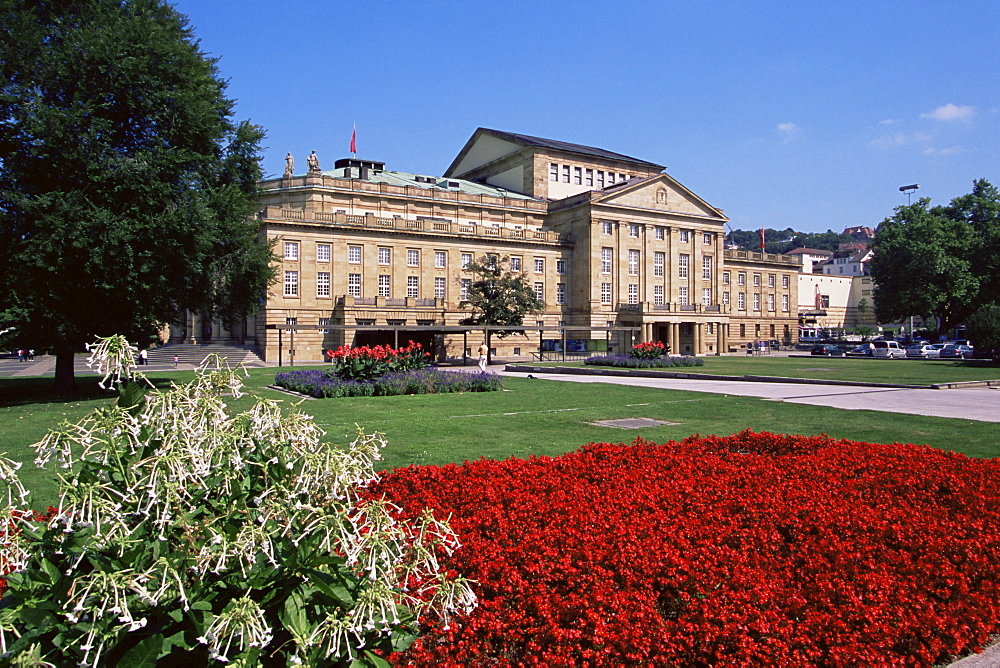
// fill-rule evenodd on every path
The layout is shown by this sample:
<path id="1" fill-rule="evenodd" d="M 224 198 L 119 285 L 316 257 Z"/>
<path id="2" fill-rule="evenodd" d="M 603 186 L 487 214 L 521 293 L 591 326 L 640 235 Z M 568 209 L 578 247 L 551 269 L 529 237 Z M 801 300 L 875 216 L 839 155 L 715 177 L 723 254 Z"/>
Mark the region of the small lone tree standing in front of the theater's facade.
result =
<path id="1" fill-rule="evenodd" d="M 510 268 L 509 257 L 484 255 L 470 262 L 464 269 L 469 278 L 464 300 L 473 313 L 462 320 L 463 325 L 489 325 L 486 344 L 493 334 L 504 338 L 519 332 L 524 317 L 538 313 L 545 305 L 535 295 L 534 287 L 524 274 Z"/>

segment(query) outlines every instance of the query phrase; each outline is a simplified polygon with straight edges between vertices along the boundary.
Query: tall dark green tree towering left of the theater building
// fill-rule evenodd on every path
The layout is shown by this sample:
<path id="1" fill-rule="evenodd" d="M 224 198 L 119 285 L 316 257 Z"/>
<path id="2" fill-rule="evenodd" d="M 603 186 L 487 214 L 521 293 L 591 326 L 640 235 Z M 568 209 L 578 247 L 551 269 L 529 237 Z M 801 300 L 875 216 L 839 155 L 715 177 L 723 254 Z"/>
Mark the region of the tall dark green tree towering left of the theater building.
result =
<path id="1" fill-rule="evenodd" d="M 0 328 L 57 355 L 273 280 L 251 221 L 263 132 L 162 0 L 0 0 Z"/>

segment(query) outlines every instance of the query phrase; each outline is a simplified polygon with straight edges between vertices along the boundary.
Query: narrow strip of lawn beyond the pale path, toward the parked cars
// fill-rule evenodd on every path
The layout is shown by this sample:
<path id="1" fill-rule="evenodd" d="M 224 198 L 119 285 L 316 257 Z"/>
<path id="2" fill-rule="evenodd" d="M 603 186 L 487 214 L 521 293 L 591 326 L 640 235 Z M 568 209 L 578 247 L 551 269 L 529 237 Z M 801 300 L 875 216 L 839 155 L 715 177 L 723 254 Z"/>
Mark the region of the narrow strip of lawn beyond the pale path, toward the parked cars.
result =
<path id="1" fill-rule="evenodd" d="M 932 385 L 1000 380 L 1000 366 L 986 360 L 876 360 L 854 357 L 704 357 L 705 365 L 665 371 L 726 376 L 782 376 L 818 380 L 859 380 L 901 385 Z M 535 365 L 537 366 L 537 364 Z M 541 366 L 583 366 L 547 362 Z"/>

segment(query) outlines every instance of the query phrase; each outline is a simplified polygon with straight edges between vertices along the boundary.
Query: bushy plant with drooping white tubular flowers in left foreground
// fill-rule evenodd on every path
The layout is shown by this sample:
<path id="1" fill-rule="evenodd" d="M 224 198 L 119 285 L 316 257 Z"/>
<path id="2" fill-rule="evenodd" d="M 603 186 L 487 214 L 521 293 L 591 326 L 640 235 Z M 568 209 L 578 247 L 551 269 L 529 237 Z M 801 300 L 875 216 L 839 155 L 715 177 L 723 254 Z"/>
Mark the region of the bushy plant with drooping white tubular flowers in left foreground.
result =
<path id="1" fill-rule="evenodd" d="M 439 567 L 458 546 L 445 522 L 365 500 L 381 434 L 324 444 L 298 406 L 234 413 L 241 394 L 215 360 L 53 430 L 35 445 L 60 480 L 44 521 L 0 457 L 0 661 L 387 665 L 421 615 L 476 605 Z"/>

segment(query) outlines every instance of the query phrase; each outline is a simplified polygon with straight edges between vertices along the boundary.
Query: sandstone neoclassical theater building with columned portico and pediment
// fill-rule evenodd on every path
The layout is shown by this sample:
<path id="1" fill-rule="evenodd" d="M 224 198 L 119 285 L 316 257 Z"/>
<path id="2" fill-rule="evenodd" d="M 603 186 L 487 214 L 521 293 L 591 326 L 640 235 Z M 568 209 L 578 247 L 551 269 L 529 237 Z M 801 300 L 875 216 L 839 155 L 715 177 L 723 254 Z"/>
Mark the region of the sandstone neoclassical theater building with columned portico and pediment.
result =
<path id="1" fill-rule="evenodd" d="M 797 336 L 801 261 L 726 250 L 722 209 L 645 160 L 480 128 L 441 176 L 357 158 L 320 170 L 310 156 L 306 173 L 260 189 L 278 283 L 232 331 L 191 318 L 174 340 L 207 335 L 269 361 L 408 340 L 461 357 L 482 339 L 459 327 L 463 268 L 487 254 L 509 257 L 545 305 L 530 331 L 492 339 L 502 357 L 567 340 L 715 355 Z"/>

